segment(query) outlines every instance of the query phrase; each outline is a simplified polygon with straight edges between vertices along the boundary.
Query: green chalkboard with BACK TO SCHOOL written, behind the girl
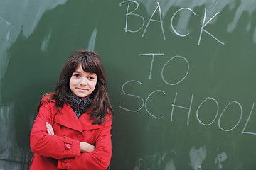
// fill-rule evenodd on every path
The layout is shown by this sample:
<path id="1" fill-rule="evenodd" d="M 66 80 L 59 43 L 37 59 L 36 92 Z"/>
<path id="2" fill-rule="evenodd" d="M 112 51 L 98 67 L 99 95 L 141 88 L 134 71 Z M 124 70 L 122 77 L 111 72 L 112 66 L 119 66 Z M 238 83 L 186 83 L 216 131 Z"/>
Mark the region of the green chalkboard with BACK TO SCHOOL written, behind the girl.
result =
<path id="1" fill-rule="evenodd" d="M 0 169 L 29 169 L 41 96 L 70 52 L 102 58 L 109 169 L 255 169 L 256 2 L 1 0 Z"/>

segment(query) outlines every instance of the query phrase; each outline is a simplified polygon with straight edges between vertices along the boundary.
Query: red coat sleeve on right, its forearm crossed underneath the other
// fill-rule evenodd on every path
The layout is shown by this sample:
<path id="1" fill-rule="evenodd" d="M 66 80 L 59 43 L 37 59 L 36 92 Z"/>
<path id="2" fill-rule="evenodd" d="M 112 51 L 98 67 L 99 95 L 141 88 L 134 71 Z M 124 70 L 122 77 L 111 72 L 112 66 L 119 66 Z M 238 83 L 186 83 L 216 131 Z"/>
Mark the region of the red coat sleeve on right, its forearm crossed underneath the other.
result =
<path id="1" fill-rule="evenodd" d="M 80 157 L 75 157 L 75 159 L 58 159 L 58 168 L 84 170 L 107 169 L 112 156 L 112 142 L 110 133 L 111 124 L 112 121 L 109 119 L 107 120 L 107 123 L 102 126 L 100 135 L 97 137 L 95 142 L 95 150 L 93 152 L 82 152 L 80 153 Z"/>

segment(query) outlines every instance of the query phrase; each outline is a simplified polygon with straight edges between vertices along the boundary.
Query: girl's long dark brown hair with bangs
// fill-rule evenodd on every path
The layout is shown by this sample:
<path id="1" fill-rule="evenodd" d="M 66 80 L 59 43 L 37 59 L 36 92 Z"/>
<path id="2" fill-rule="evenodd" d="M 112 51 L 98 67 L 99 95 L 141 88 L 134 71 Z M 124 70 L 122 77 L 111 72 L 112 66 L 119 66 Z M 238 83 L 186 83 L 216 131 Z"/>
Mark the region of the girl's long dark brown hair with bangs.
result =
<path id="1" fill-rule="evenodd" d="M 59 112 L 60 108 L 64 106 L 64 103 L 68 103 L 68 96 L 70 96 L 69 93 L 71 91 L 69 85 L 70 77 L 80 64 L 82 65 L 83 71 L 97 74 L 95 90 L 90 94 L 90 97 L 92 97 L 93 100 L 90 108 L 87 108 L 86 111 L 92 110 L 92 112 L 90 112 L 90 118 L 91 120 L 94 120 L 92 124 L 102 124 L 105 122 L 107 115 L 114 115 L 114 112 L 107 95 L 107 78 L 105 70 L 102 61 L 96 52 L 76 50 L 70 55 L 68 61 L 60 72 L 60 78 L 55 87 L 55 93 L 50 94 L 48 101 L 52 99 L 55 100 L 55 106 Z M 38 108 L 40 108 L 42 104 L 43 103 L 41 103 Z"/>

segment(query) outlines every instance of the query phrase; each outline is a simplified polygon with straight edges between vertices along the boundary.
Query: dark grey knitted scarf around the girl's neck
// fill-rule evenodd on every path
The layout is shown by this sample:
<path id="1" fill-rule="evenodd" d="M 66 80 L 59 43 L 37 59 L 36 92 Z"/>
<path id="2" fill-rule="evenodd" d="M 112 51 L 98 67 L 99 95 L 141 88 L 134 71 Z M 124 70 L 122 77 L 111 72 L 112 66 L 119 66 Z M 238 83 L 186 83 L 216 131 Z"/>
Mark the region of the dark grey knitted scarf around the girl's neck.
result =
<path id="1" fill-rule="evenodd" d="M 70 93 L 68 97 L 68 103 L 75 112 L 75 115 L 80 118 L 80 116 L 85 113 L 85 110 L 90 107 L 92 103 L 92 98 L 79 98 Z"/>

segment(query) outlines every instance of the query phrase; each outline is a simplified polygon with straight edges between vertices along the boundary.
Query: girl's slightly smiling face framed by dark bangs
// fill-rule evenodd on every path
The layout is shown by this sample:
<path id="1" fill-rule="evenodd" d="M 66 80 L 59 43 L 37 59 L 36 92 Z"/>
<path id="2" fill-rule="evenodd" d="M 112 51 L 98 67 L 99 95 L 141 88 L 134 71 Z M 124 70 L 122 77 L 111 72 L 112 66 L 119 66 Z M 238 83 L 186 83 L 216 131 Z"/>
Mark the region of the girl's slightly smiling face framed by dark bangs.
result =
<path id="1" fill-rule="evenodd" d="M 96 84 L 97 74 L 83 71 L 81 64 L 76 67 L 70 77 L 70 89 L 80 98 L 89 97 L 95 90 Z"/>

